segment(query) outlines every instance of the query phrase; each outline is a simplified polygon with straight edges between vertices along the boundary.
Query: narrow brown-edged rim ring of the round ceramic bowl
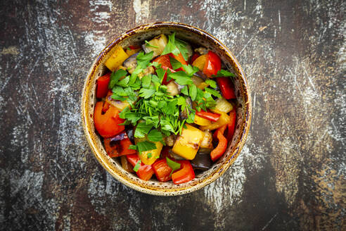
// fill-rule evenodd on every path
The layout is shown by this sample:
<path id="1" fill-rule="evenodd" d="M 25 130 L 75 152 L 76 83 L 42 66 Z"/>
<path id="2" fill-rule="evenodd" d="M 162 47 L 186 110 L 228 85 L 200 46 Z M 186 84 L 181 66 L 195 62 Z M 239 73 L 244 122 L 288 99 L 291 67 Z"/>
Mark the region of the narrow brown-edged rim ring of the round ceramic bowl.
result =
<path id="1" fill-rule="evenodd" d="M 243 125 L 243 132 L 241 132 L 240 137 L 236 141 L 236 144 L 233 147 L 233 153 L 229 155 L 228 158 L 222 163 L 219 168 L 214 170 L 214 172 L 210 173 L 207 177 L 205 177 L 203 180 L 199 181 L 195 185 L 188 185 L 186 187 L 180 187 L 177 189 L 167 189 L 167 188 L 153 188 L 153 187 L 142 187 L 138 184 L 138 182 L 130 182 L 129 180 L 125 179 L 122 175 L 120 175 L 119 172 L 116 172 L 115 167 L 109 165 L 109 161 L 107 158 L 101 154 L 101 151 L 98 150 L 98 146 L 96 145 L 96 142 L 94 141 L 94 136 L 92 135 L 92 132 L 90 132 L 91 124 L 88 123 L 88 107 L 89 104 L 87 104 L 87 91 L 89 90 L 89 85 L 92 85 L 91 78 L 98 69 L 99 65 L 101 65 L 103 61 L 103 57 L 105 54 L 108 54 L 113 47 L 121 42 L 123 39 L 127 37 L 131 37 L 132 35 L 135 35 L 136 33 L 143 32 L 148 29 L 155 29 L 160 27 L 173 27 L 173 28 L 179 28 L 181 30 L 186 30 L 189 32 L 197 33 L 199 35 L 202 35 L 205 37 L 205 39 L 210 39 L 210 42 L 214 42 L 218 46 L 220 50 L 226 54 L 226 58 L 229 58 L 231 62 L 233 62 L 233 68 L 237 69 L 238 77 L 241 78 L 241 84 L 243 85 L 243 92 L 245 96 L 244 104 L 245 104 L 245 111 L 243 112 L 245 114 L 244 118 L 244 125 Z M 251 94 L 250 89 L 248 87 L 248 81 L 246 80 L 245 73 L 243 72 L 243 69 L 241 68 L 241 65 L 238 63 L 237 59 L 231 51 L 217 38 L 210 35 L 208 32 L 205 32 L 204 30 L 201 30 L 198 27 L 194 27 L 192 25 L 187 25 L 184 23 L 174 23 L 174 22 L 156 22 L 156 23 L 148 23 L 144 25 L 139 25 L 137 27 L 134 27 L 133 29 L 127 30 L 126 32 L 123 32 L 120 36 L 115 37 L 105 48 L 101 51 L 100 54 L 96 57 L 94 63 L 91 65 L 91 68 L 89 70 L 89 73 L 84 80 L 84 87 L 82 91 L 82 102 L 81 102 L 81 116 L 82 116 L 82 125 L 84 129 L 84 135 L 87 138 L 87 142 L 89 143 L 89 146 L 91 147 L 91 151 L 93 152 L 95 158 L 98 160 L 99 163 L 101 163 L 101 166 L 105 168 L 105 170 L 108 171 L 113 177 L 115 177 L 116 180 L 119 180 L 122 182 L 122 184 L 127 185 L 127 187 L 130 187 L 132 189 L 135 189 L 139 192 L 144 192 L 146 194 L 153 194 L 153 195 L 159 195 L 159 196 L 176 196 L 180 194 L 186 194 L 189 192 L 196 191 L 198 189 L 201 189 L 205 187 L 206 185 L 209 185 L 211 182 L 214 182 L 214 180 L 217 180 L 220 176 L 222 176 L 226 170 L 231 166 L 231 164 L 236 160 L 238 155 L 241 152 L 241 149 L 243 149 L 243 146 L 245 144 L 245 140 L 248 136 L 248 132 L 250 130 L 250 123 L 251 123 L 251 116 L 252 116 L 252 105 L 251 105 Z"/>

